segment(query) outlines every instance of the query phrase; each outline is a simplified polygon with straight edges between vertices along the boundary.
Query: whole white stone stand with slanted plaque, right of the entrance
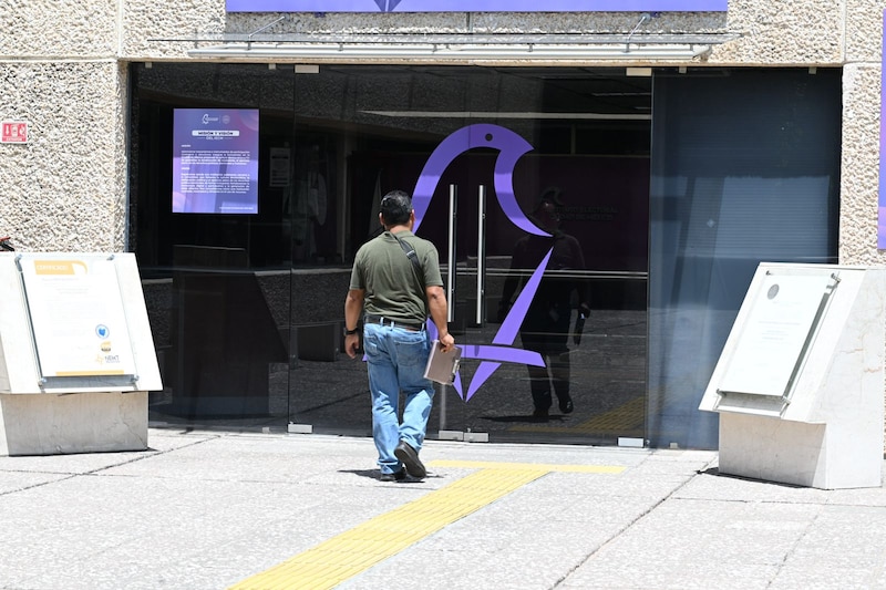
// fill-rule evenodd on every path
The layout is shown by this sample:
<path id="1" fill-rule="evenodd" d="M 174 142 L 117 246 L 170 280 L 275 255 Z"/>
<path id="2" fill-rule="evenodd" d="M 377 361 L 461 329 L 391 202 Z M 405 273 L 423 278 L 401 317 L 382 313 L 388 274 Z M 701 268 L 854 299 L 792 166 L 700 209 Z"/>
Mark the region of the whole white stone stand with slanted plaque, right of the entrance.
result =
<path id="1" fill-rule="evenodd" d="M 886 270 L 761 263 L 699 406 L 720 473 L 880 487 L 885 333 Z"/>

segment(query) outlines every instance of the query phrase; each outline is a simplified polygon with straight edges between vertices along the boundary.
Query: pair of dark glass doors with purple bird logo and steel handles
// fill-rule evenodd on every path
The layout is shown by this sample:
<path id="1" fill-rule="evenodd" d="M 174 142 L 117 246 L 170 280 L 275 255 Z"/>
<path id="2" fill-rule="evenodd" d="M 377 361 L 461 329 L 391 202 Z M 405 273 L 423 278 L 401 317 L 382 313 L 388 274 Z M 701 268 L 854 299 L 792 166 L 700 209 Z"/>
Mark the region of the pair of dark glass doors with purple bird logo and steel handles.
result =
<path id="1" fill-rule="evenodd" d="M 342 308 L 380 198 L 402 188 L 437 246 L 464 349 L 429 436 L 642 438 L 649 79 L 330 65 L 296 76 L 295 104 L 296 137 L 322 146 L 338 208 L 324 230 L 336 240 L 315 257 L 293 249 L 291 423 L 371 431 L 365 368 L 340 350 Z"/>

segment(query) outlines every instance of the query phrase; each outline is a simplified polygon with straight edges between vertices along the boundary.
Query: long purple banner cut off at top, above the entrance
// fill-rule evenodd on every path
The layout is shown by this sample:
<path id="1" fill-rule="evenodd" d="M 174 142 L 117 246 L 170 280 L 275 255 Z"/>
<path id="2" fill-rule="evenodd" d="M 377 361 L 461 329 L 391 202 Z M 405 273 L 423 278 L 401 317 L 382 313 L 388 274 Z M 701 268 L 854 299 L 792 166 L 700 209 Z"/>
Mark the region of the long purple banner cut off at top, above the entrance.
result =
<path id="1" fill-rule="evenodd" d="M 729 0 L 227 0 L 228 12 L 725 12 Z"/>

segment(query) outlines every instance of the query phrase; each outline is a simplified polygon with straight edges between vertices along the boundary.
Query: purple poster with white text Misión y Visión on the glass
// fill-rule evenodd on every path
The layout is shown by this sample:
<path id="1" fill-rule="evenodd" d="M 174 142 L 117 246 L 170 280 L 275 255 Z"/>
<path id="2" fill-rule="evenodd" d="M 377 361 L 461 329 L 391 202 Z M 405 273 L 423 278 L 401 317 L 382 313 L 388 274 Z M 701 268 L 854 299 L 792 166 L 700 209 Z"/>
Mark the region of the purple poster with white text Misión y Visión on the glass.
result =
<path id="1" fill-rule="evenodd" d="M 258 110 L 176 108 L 173 213 L 258 213 Z"/>

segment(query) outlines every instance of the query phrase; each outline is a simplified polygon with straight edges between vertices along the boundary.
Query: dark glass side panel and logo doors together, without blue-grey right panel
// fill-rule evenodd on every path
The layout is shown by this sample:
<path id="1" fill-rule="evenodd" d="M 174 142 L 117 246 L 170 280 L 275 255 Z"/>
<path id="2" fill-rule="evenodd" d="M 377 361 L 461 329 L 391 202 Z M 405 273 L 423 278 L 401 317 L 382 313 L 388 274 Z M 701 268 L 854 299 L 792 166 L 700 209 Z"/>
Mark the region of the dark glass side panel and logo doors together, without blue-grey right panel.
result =
<path id="1" fill-rule="evenodd" d="M 157 420 L 369 434 L 365 368 L 341 351 L 350 265 L 380 231 L 381 195 L 424 186 L 418 234 L 452 277 L 468 352 L 429 435 L 643 437 L 650 79 L 154 64 L 134 80 Z M 259 112 L 257 215 L 169 208 L 175 110 L 209 106 Z"/>

